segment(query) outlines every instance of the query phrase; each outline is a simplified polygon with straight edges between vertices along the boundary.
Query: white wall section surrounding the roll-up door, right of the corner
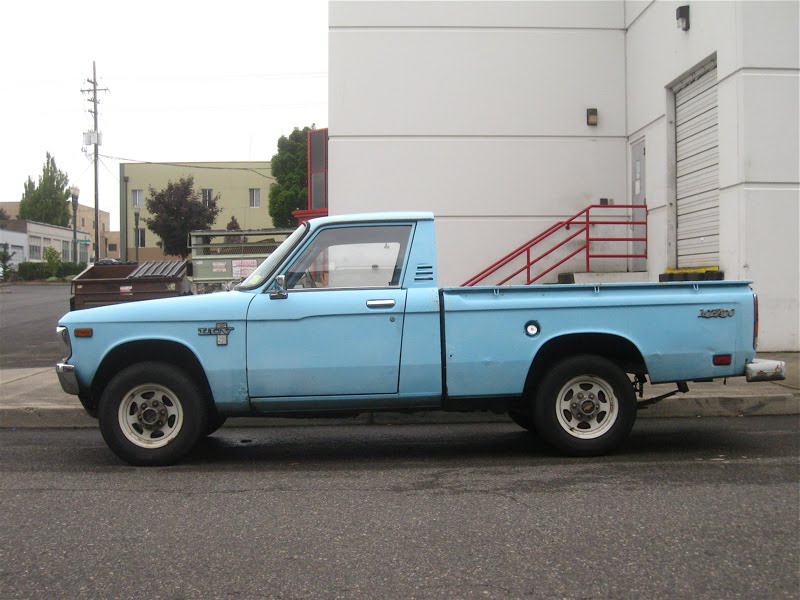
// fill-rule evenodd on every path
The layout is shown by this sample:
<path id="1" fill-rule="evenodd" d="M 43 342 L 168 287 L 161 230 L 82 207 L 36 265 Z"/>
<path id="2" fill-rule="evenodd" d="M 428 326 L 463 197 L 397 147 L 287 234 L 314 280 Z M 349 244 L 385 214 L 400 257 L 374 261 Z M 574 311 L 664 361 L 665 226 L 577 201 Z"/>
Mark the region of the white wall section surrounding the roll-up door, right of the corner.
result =
<path id="1" fill-rule="evenodd" d="M 798 7 L 796 2 L 626 2 L 627 135 L 645 138 L 651 278 L 675 266 L 674 107 L 670 85 L 716 56 L 720 268 L 752 279 L 761 348 L 797 350 L 800 280 Z M 629 184 L 630 192 L 630 184 Z M 791 223 L 791 226 L 787 226 Z"/>

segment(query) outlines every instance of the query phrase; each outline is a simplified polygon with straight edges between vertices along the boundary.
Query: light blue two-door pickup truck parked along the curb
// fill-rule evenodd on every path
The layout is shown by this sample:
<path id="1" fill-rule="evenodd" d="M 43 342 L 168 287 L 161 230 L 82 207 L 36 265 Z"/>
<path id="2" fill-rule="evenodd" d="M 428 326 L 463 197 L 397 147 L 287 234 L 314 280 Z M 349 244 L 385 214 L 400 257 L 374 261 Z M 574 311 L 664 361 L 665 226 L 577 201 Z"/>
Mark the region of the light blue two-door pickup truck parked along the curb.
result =
<path id="1" fill-rule="evenodd" d="M 648 380 L 782 379 L 757 323 L 740 281 L 440 289 L 432 214 L 351 215 L 301 225 L 233 291 L 68 313 L 56 371 L 137 465 L 227 417 L 365 411 L 506 412 L 591 456 L 659 400 Z"/>

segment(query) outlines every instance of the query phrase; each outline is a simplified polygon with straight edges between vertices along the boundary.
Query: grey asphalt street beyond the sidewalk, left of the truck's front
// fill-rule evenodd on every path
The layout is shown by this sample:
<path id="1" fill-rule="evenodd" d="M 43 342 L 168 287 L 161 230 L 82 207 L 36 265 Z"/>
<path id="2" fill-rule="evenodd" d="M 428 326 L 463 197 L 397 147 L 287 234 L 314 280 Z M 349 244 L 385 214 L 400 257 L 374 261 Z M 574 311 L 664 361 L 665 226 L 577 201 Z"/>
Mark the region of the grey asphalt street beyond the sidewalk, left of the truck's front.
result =
<path id="1" fill-rule="evenodd" d="M 0 369 L 47 367 L 62 357 L 58 319 L 69 312 L 70 285 L 0 287 Z"/>

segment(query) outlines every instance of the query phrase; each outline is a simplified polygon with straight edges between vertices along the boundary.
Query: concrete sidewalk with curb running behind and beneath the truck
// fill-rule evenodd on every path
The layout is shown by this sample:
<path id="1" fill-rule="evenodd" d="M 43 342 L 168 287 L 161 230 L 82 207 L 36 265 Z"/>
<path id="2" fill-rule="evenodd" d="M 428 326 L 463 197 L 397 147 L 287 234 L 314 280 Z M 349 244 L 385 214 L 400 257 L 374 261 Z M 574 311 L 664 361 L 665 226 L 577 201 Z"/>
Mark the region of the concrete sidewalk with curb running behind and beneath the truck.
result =
<path id="1" fill-rule="evenodd" d="M 800 355 L 797 352 L 763 353 L 759 358 L 786 362 L 785 381 L 747 383 L 744 377 L 713 383 L 689 383 L 688 394 L 678 394 L 639 412 L 646 417 L 719 417 L 800 414 Z M 648 385 L 648 398 L 665 394 L 674 385 Z M 319 424 L 412 424 L 502 422 L 493 413 L 426 412 L 413 414 L 372 413 L 350 419 L 256 419 L 228 420 L 230 426 L 279 426 Z M 0 371 L 0 428 L 97 427 L 77 396 L 61 390 L 54 367 Z"/>

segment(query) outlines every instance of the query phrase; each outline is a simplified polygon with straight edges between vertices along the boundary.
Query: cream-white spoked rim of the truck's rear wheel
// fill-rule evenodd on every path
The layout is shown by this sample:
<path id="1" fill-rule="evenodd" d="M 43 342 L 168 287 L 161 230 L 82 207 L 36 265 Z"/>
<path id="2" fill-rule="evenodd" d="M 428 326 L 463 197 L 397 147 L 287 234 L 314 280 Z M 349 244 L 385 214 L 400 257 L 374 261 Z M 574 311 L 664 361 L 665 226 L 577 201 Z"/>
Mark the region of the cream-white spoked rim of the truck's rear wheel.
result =
<path id="1" fill-rule="evenodd" d="M 619 416 L 619 399 L 607 381 L 594 375 L 571 379 L 558 393 L 558 424 L 573 437 L 594 439 L 608 432 Z"/>

